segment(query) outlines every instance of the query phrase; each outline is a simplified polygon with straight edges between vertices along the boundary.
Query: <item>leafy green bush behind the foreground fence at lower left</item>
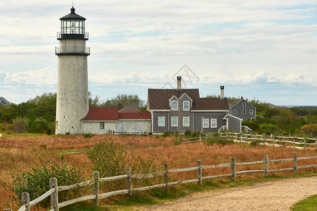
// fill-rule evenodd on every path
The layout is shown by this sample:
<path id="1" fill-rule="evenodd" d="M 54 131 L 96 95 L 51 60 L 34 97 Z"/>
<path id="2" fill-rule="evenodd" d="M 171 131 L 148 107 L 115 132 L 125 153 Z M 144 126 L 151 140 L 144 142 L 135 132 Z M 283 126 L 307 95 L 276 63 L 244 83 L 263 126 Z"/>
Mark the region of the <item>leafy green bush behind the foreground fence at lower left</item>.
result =
<path id="1" fill-rule="evenodd" d="M 34 200 L 48 191 L 49 180 L 56 177 L 58 180 L 58 186 L 65 186 L 70 184 L 77 184 L 84 181 L 84 174 L 82 169 L 75 167 L 68 167 L 63 161 L 61 164 L 48 163 L 47 165 L 41 165 L 31 167 L 30 172 L 20 172 L 20 174 L 11 174 L 13 179 L 13 191 L 20 197 L 21 193 L 30 193 L 30 200 Z M 65 193 L 59 193 L 59 197 L 63 200 L 67 198 L 78 197 L 80 191 L 66 191 Z M 48 198 L 49 199 L 49 198 Z M 48 204 L 48 199 L 44 201 L 44 204 Z"/>

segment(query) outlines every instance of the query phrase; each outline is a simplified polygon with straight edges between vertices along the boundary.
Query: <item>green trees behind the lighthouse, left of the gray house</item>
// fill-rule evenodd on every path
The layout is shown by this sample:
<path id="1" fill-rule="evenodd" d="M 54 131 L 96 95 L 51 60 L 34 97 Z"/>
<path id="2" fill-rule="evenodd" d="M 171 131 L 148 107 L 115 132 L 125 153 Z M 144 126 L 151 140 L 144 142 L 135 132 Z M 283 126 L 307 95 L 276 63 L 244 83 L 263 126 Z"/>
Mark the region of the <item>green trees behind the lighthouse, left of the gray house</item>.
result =
<path id="1" fill-rule="evenodd" d="M 89 93 L 89 107 L 134 106 L 145 112 L 144 101 L 136 94 L 118 94 L 107 101 Z M 0 132 L 55 133 L 56 93 L 44 93 L 27 102 L 0 106 Z"/>

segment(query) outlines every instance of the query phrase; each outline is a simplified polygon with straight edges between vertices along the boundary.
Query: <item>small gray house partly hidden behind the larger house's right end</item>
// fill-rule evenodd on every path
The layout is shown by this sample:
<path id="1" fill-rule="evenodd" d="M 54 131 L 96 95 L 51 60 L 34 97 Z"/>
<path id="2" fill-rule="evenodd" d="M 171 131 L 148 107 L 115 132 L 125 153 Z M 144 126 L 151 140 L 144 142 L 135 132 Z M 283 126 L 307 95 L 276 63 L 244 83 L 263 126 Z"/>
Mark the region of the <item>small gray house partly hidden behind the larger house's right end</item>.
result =
<path id="1" fill-rule="evenodd" d="M 254 120 L 257 116 L 257 108 L 252 106 L 243 97 L 229 103 L 230 114 L 244 120 Z"/>

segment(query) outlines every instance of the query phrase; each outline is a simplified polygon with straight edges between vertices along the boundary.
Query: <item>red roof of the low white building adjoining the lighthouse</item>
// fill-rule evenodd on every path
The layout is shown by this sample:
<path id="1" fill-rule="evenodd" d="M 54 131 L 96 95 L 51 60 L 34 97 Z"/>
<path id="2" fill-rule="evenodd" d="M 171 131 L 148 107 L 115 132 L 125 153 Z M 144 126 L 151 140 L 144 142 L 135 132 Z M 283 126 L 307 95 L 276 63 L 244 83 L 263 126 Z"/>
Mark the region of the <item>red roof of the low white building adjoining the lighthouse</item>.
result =
<path id="1" fill-rule="evenodd" d="M 117 108 L 89 108 L 89 112 L 82 121 L 117 121 Z"/>

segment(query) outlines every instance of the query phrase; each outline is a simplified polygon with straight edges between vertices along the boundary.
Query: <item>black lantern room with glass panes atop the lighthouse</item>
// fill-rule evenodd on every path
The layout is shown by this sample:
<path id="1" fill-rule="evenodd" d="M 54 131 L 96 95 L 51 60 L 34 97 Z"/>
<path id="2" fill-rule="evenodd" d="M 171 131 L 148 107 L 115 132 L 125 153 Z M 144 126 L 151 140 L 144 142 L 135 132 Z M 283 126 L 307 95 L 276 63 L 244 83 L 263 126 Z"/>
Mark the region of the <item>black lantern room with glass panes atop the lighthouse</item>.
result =
<path id="1" fill-rule="evenodd" d="M 60 18 L 60 32 L 57 39 L 86 39 L 88 40 L 88 32 L 85 32 L 86 18 L 77 15 L 75 8 L 70 9 L 70 14 Z"/>

